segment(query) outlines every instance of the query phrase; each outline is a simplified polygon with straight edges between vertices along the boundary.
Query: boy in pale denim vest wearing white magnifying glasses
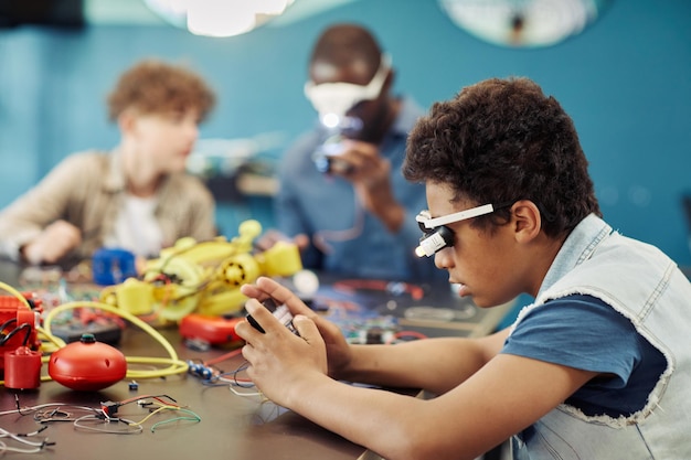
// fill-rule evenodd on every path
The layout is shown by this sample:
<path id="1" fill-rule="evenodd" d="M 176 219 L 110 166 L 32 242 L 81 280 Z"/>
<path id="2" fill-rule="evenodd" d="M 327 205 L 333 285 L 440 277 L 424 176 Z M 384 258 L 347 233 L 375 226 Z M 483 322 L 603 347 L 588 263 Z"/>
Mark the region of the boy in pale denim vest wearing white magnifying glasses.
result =
<path id="1" fill-rule="evenodd" d="M 426 184 L 421 254 L 459 293 L 486 308 L 521 292 L 534 303 L 482 339 L 348 345 L 262 278 L 243 292 L 266 333 L 246 322 L 237 333 L 268 398 L 387 460 L 472 459 L 509 437 L 517 460 L 691 458 L 691 284 L 600 218 L 553 97 L 525 78 L 469 86 L 417 122 L 403 171 Z M 300 336 L 259 306 L 267 297 L 287 303 Z"/>

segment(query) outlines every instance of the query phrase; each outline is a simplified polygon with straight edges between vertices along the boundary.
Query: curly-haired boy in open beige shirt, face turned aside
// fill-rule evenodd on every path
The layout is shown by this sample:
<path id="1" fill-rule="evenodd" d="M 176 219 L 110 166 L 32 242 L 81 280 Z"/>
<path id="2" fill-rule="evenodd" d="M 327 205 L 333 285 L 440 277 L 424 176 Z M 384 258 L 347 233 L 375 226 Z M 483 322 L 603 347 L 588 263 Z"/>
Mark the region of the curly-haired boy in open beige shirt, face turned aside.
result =
<path id="1" fill-rule="evenodd" d="M 111 152 L 64 159 L 0 214 L 0 255 L 30 264 L 88 258 L 103 247 L 158 255 L 215 236 L 214 202 L 185 160 L 215 95 L 192 71 L 145 60 L 108 97 L 121 132 Z"/>

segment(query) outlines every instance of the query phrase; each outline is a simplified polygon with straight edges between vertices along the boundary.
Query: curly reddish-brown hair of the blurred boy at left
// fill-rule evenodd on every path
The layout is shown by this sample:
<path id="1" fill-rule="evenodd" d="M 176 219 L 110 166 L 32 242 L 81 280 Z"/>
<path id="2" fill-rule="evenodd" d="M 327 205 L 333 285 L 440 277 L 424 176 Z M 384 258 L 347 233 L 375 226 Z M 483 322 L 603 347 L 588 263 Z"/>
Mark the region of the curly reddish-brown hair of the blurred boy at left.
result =
<path id="1" fill-rule="evenodd" d="M 215 94 L 191 69 L 148 58 L 120 75 L 107 101 L 108 116 L 114 121 L 128 108 L 143 114 L 195 108 L 203 121 L 215 105 Z"/>

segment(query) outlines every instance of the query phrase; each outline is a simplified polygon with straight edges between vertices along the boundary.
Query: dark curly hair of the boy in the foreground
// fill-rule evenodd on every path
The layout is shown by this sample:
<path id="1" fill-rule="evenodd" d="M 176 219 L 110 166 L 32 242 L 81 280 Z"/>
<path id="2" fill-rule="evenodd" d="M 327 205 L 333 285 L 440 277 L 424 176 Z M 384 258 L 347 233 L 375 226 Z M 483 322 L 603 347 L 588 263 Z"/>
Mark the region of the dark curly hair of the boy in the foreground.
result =
<path id="1" fill-rule="evenodd" d="M 407 141 L 408 181 L 449 185 L 478 205 L 530 200 L 556 237 L 591 213 L 602 216 L 574 124 L 556 99 L 524 77 L 490 78 L 435 103 Z M 509 207 L 475 220 L 508 222 Z"/>

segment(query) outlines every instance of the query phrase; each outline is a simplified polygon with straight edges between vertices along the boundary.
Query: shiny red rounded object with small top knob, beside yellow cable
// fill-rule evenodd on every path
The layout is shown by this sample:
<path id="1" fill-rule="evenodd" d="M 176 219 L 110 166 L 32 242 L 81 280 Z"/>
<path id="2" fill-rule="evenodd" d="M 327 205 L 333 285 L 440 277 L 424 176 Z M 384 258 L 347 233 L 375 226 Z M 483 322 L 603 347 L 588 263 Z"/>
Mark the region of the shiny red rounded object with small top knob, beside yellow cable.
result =
<path id="1" fill-rule="evenodd" d="M 125 378 L 127 361 L 116 347 L 84 334 L 51 355 L 47 373 L 67 388 L 95 392 Z"/>

